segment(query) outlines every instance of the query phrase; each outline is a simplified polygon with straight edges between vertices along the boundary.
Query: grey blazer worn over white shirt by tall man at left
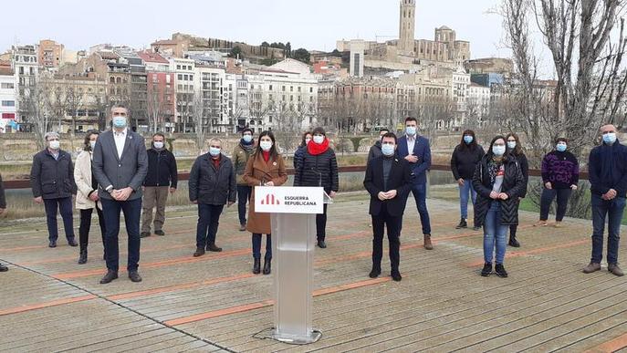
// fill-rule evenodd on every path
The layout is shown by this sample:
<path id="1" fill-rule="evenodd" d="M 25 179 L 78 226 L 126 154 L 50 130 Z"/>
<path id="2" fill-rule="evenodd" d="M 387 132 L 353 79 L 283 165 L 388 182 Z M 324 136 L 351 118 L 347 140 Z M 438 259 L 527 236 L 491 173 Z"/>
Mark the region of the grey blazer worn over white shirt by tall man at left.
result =
<path id="1" fill-rule="evenodd" d="M 109 185 L 116 190 L 131 187 L 133 192 L 129 200 L 141 198 L 141 183 L 148 172 L 148 155 L 146 144 L 140 134 L 127 130 L 124 150 L 119 158 L 113 131 L 103 132 L 96 141 L 93 155 L 91 166 L 99 184 L 100 198 L 113 200 L 109 192 L 106 192 Z"/>

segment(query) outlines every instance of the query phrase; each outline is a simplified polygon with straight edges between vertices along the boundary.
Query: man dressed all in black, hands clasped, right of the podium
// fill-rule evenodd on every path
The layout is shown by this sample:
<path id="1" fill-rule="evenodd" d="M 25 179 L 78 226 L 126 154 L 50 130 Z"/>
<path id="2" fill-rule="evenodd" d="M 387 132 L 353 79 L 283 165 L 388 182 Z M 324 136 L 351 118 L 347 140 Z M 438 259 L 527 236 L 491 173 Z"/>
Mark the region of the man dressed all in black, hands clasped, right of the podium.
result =
<path id="1" fill-rule="evenodd" d="M 396 155 L 396 135 L 386 133 L 381 138 L 382 155 L 368 163 L 363 185 L 371 194 L 370 214 L 372 216 L 372 271 L 371 278 L 381 275 L 383 257 L 383 227 L 387 225 L 390 242 L 390 263 L 392 279 L 402 279 L 399 271 L 402 213 L 405 199 L 410 192 L 410 166 Z"/>

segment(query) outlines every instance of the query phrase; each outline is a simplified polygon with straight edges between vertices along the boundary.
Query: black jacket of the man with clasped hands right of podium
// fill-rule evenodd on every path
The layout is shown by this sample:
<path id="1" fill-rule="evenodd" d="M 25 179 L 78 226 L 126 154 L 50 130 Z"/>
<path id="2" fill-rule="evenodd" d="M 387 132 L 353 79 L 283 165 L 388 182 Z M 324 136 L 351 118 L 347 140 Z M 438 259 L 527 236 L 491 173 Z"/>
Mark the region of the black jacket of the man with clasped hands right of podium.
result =
<path id="1" fill-rule="evenodd" d="M 412 190 L 412 171 L 408 161 L 394 156 L 386 185 L 387 190 L 383 190 L 383 158 L 382 156 L 376 157 L 369 161 L 366 168 L 363 186 L 371 194 L 369 213 L 374 216 L 381 213 L 381 205 L 385 202 L 387 212 L 390 215 L 395 217 L 402 216 L 402 213 L 405 211 L 407 195 Z M 391 200 L 379 200 L 379 192 L 388 192 L 390 190 L 396 190 L 396 197 Z"/>

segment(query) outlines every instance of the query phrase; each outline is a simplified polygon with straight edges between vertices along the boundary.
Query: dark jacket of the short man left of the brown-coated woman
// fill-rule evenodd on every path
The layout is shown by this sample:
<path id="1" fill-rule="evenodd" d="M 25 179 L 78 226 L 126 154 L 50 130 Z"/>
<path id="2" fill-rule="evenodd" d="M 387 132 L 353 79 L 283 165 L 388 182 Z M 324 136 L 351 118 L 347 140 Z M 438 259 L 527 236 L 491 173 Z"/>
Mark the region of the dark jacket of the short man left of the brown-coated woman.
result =
<path id="1" fill-rule="evenodd" d="M 214 205 L 235 202 L 233 162 L 223 154 L 219 165 L 216 169 L 209 153 L 196 158 L 190 171 L 190 201 Z"/>

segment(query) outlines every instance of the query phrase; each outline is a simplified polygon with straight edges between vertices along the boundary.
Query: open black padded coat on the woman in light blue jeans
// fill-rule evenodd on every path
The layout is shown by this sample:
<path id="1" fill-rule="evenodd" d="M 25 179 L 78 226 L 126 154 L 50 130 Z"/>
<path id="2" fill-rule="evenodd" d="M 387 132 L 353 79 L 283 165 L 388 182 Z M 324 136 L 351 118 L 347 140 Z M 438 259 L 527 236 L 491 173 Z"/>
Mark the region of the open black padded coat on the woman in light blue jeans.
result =
<path id="1" fill-rule="evenodd" d="M 492 202 L 501 204 L 501 224 L 512 225 L 518 223 L 518 197 L 525 191 L 527 184 L 522 174 L 522 169 L 517 159 L 511 155 L 507 156 L 505 163 L 505 178 L 501 192 L 507 193 L 507 200 L 493 200 L 490 198 L 492 192 L 492 182 L 488 171 L 488 160 L 491 158 L 486 154 L 476 165 L 475 176 L 473 177 L 473 187 L 476 192 L 475 202 L 475 225 L 481 226 L 486 221 L 487 211 Z"/>

